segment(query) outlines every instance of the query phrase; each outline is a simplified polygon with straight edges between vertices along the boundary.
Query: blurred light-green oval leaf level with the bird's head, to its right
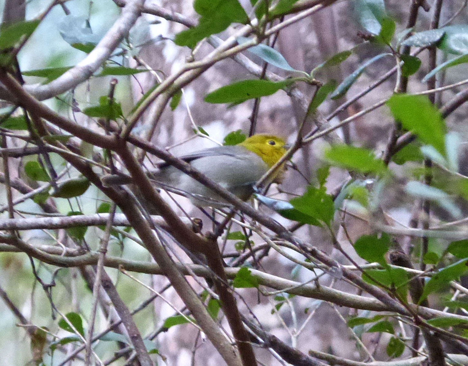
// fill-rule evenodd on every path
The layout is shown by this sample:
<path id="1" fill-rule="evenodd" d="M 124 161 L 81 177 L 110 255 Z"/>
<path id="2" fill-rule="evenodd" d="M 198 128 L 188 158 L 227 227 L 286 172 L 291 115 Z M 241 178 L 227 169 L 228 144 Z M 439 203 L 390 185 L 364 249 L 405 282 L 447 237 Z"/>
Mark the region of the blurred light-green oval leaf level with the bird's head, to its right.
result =
<path id="1" fill-rule="evenodd" d="M 372 151 L 349 145 L 332 146 L 325 157 L 334 165 L 364 174 L 383 174 L 387 171 L 384 162 L 377 159 Z"/>

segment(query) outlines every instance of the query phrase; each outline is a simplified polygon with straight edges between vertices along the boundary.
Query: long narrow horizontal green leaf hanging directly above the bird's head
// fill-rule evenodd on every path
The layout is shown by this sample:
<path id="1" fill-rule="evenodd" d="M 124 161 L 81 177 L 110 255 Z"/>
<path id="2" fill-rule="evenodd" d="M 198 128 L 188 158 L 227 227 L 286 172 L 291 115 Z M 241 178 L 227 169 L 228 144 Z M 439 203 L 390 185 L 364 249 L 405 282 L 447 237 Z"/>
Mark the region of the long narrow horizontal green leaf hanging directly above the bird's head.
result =
<path id="1" fill-rule="evenodd" d="M 205 96 L 208 103 L 239 103 L 261 96 L 272 95 L 285 88 L 286 81 L 243 80 L 216 89 Z"/>

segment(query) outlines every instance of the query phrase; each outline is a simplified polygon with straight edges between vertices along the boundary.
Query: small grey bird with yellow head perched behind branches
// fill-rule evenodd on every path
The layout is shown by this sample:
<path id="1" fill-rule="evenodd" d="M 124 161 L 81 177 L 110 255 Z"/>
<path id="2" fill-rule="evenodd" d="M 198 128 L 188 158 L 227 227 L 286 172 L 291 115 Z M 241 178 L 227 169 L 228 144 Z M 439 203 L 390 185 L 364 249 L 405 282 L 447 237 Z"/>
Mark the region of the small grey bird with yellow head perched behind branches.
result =
<path id="1" fill-rule="evenodd" d="M 245 201 L 254 192 L 255 183 L 288 148 L 284 139 L 259 133 L 237 145 L 211 147 L 179 158 Z M 161 162 L 156 167 L 157 170 L 149 171 L 147 175 L 158 188 L 182 194 L 198 207 L 228 205 L 217 193 L 168 163 Z M 281 183 L 284 173 L 285 164 L 282 164 L 266 183 Z M 101 181 L 107 187 L 133 183 L 131 176 L 122 174 L 103 176 Z"/>

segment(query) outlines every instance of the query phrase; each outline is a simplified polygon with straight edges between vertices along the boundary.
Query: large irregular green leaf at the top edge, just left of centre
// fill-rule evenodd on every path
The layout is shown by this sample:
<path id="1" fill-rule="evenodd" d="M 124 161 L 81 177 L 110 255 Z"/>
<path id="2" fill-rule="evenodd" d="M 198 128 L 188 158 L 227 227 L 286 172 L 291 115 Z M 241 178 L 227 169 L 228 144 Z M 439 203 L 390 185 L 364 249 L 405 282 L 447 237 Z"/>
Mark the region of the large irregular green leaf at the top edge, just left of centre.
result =
<path id="1" fill-rule="evenodd" d="M 222 32 L 231 23 L 249 22 L 238 0 L 195 0 L 193 7 L 201 18 L 196 27 L 176 34 L 174 42 L 179 46 L 194 48 L 203 38 Z"/>

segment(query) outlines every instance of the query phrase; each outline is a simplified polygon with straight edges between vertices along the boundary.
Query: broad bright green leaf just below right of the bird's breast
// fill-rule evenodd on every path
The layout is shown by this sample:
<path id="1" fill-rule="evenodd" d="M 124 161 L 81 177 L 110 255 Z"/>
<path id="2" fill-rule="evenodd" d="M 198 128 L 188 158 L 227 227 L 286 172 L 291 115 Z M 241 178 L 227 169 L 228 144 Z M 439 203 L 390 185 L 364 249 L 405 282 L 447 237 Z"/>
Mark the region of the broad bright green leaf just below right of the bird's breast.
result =
<path id="1" fill-rule="evenodd" d="M 330 225 L 335 214 L 333 198 L 327 194 L 324 187 L 315 188 L 309 185 L 301 197 L 292 198 L 290 203 L 297 211 L 322 221 L 327 226 Z"/>

